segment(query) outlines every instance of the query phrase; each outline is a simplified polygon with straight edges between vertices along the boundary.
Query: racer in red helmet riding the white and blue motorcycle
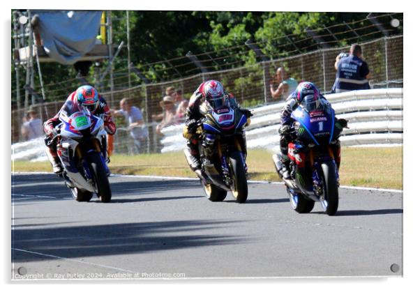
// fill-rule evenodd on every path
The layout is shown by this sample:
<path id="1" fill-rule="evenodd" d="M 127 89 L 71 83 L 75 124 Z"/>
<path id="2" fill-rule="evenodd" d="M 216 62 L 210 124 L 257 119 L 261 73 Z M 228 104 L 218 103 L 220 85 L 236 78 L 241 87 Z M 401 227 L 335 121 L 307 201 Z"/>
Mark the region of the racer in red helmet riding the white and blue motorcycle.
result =
<path id="1" fill-rule="evenodd" d="M 84 85 L 77 88 L 76 91 L 70 93 L 59 112 L 44 123 L 44 131 L 46 134 L 45 144 L 47 145 L 45 151 L 48 160 L 51 162 L 52 171 L 55 174 L 61 174 L 63 172 L 63 165 L 61 165 L 60 158 L 57 155 L 57 139 L 51 142 L 51 140 L 54 139 L 54 136 L 57 135 L 57 132 L 54 130 L 55 126 L 61 123 L 59 116 L 61 113 L 65 116 L 70 116 L 75 112 L 79 112 L 83 107 L 89 109 L 93 115 L 103 119 L 107 134 L 114 135 L 117 130 L 114 121 L 112 121 L 110 107 L 108 107 L 105 99 L 98 94 L 98 91 L 90 85 Z M 106 144 L 106 142 L 103 142 L 103 144 Z"/>

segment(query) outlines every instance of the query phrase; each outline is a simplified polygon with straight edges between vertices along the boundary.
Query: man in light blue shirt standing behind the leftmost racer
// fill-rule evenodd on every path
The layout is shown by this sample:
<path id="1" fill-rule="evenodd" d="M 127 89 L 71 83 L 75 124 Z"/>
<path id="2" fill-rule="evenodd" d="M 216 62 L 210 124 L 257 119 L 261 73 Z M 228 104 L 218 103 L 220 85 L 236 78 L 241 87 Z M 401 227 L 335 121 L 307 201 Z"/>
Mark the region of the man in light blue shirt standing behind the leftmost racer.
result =
<path id="1" fill-rule="evenodd" d="M 134 139 L 136 153 L 142 153 L 143 145 L 146 142 L 148 131 L 144 128 L 142 112 L 138 107 L 132 105 L 131 100 L 123 98 L 119 102 L 119 110 L 114 110 L 116 116 L 123 116 L 128 124 L 130 136 Z"/>

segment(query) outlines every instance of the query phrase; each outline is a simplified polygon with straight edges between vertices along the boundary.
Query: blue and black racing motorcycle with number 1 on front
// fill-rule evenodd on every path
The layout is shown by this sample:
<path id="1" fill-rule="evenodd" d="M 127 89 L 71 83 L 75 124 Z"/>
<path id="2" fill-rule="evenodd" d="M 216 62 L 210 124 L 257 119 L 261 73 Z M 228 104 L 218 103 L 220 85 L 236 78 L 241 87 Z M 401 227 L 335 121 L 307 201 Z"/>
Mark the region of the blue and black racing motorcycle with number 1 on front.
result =
<path id="1" fill-rule="evenodd" d="M 285 182 L 290 204 L 298 213 L 310 213 L 319 201 L 324 213 L 334 215 L 338 209 L 338 166 L 340 150 L 334 130 L 335 112 L 329 102 L 306 98 L 292 112 L 287 155 L 291 179 L 282 175 L 280 156 L 273 155 L 274 165 Z"/>

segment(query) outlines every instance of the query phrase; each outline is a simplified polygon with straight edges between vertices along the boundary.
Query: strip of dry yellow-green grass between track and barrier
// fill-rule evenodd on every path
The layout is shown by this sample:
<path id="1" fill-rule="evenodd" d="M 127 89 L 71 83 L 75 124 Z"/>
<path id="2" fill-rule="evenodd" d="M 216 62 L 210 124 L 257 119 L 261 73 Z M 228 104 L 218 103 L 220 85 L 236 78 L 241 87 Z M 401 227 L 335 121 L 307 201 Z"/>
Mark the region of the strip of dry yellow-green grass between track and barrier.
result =
<path id="1" fill-rule="evenodd" d="M 251 180 L 279 181 L 271 160 L 273 153 L 248 151 Z M 403 189 L 403 147 L 342 148 L 340 184 L 370 188 Z M 195 177 L 182 152 L 149 155 L 112 155 L 114 174 Z M 16 161 L 12 171 L 51 171 L 50 163 Z"/>

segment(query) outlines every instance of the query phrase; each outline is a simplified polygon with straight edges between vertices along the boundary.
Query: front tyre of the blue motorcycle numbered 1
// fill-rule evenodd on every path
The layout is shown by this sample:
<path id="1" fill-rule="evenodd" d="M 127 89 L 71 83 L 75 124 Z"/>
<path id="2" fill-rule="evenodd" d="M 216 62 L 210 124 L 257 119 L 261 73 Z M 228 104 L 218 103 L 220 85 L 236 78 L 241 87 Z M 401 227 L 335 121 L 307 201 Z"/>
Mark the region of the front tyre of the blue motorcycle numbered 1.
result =
<path id="1" fill-rule="evenodd" d="M 338 209 L 338 184 L 336 165 L 332 161 L 324 162 L 322 167 L 323 190 L 320 197 L 322 208 L 327 215 L 335 215 Z"/>

